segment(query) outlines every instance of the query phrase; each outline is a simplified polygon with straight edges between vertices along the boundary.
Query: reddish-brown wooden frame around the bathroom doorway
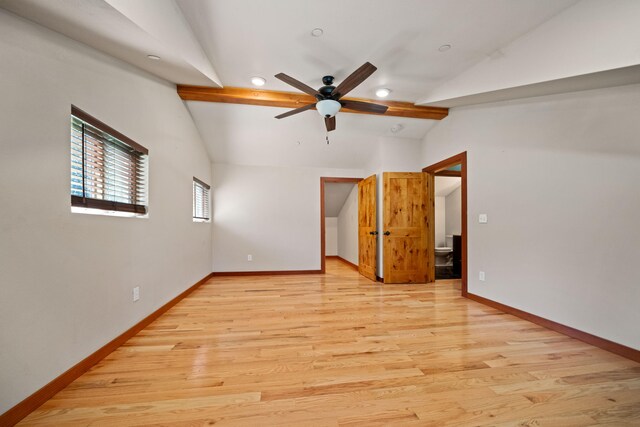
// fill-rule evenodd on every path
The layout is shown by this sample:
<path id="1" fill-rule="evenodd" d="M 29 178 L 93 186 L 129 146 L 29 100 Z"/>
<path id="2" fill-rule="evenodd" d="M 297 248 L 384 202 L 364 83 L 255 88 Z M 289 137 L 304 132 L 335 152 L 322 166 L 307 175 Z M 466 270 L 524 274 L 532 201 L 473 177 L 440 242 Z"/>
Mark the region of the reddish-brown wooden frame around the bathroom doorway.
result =
<path id="1" fill-rule="evenodd" d="M 452 173 L 451 171 L 446 171 L 447 168 L 460 164 L 460 174 Z M 462 229 L 462 296 L 467 296 L 467 283 L 468 283 L 468 271 L 467 271 L 467 152 L 464 151 L 460 154 L 456 154 L 455 156 L 451 156 L 447 159 L 439 161 L 437 163 L 432 164 L 431 166 L 427 166 L 422 169 L 423 172 L 431 174 L 434 176 L 460 176 L 461 178 L 461 193 L 462 193 L 462 208 L 461 208 L 461 229 Z M 434 186 L 435 187 L 435 186 Z M 431 191 L 435 191 L 435 189 L 431 189 Z M 435 200 L 435 199 L 434 199 Z M 433 224 L 435 218 L 429 218 L 431 223 Z M 435 234 L 435 227 L 431 228 L 431 233 Z M 434 251 L 435 248 L 430 248 L 430 251 Z M 435 268 L 435 267 L 434 267 Z"/>

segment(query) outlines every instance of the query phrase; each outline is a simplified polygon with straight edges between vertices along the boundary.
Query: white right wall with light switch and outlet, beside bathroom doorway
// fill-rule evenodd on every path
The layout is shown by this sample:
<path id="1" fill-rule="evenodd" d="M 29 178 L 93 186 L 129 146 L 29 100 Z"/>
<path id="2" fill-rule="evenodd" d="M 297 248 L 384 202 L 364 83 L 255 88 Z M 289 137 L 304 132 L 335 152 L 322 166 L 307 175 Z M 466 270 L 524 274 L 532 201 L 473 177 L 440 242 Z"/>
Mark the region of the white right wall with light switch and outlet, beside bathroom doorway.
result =
<path id="1" fill-rule="evenodd" d="M 638 117 L 634 85 L 457 108 L 427 134 L 425 165 L 468 152 L 471 293 L 640 348 Z"/>

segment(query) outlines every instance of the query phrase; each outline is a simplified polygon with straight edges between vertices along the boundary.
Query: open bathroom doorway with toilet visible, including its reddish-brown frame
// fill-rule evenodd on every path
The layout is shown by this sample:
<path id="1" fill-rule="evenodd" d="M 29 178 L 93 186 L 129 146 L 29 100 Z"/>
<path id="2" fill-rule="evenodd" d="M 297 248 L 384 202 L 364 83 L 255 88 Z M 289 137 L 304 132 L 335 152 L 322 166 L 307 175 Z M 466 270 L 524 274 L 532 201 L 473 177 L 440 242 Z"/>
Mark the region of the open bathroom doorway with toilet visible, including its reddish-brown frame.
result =
<path id="1" fill-rule="evenodd" d="M 438 178 L 441 179 L 441 183 L 443 184 L 449 181 L 450 187 L 455 187 L 455 181 L 457 179 L 459 179 L 460 181 L 458 190 L 458 200 L 460 204 L 459 211 L 455 206 L 456 201 L 458 201 L 455 199 L 456 197 L 458 197 L 458 195 L 454 194 L 457 193 L 456 188 L 440 188 L 440 191 L 442 193 L 440 197 L 445 197 L 445 212 L 442 212 L 441 210 L 440 214 L 438 215 L 438 206 L 436 206 L 434 216 L 431 218 L 431 221 L 435 222 L 435 227 L 432 227 L 431 231 L 431 233 L 433 234 L 435 245 L 429 250 L 434 252 L 434 256 L 436 259 L 436 278 L 445 278 L 442 277 L 443 275 L 450 276 L 459 274 L 459 277 L 462 280 L 462 296 L 467 296 L 467 152 L 465 151 L 464 153 L 457 154 L 431 166 L 427 166 L 426 168 L 422 169 L 422 171 L 433 176 L 436 180 L 436 185 L 438 182 Z M 436 187 L 432 191 L 434 191 L 433 195 L 436 198 L 437 203 L 438 188 Z M 445 193 L 446 195 L 444 195 Z M 459 212 L 459 223 L 452 218 L 452 215 L 447 216 L 446 214 L 446 197 L 449 195 L 453 197 L 453 199 L 451 199 L 449 203 L 451 205 L 451 209 L 453 210 L 452 213 L 454 215 L 458 215 Z M 440 203 L 442 202 L 443 200 L 440 200 Z M 440 224 L 438 224 L 438 216 L 440 216 Z M 449 234 L 447 234 L 446 227 L 447 218 L 450 218 L 451 221 Z M 445 222 L 444 229 L 442 227 L 438 227 L 439 225 L 442 226 L 441 223 L 443 220 Z M 458 224 L 459 229 L 457 228 Z M 440 233 L 436 231 L 438 228 L 440 230 Z M 449 236 L 449 239 L 447 239 L 447 235 Z M 444 244 L 444 246 L 441 246 L 442 244 Z M 451 246 L 448 246 L 448 244 Z M 440 264 L 440 266 L 438 264 Z M 440 275 L 440 277 L 438 277 L 438 275 Z"/>

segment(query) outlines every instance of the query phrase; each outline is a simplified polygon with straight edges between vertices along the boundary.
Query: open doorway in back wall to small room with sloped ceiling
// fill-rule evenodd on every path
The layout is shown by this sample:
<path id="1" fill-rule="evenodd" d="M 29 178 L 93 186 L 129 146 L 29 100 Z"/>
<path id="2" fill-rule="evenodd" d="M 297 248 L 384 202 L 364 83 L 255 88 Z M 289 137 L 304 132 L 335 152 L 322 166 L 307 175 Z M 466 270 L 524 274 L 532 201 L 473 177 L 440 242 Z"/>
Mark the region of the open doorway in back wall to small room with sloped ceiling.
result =
<path id="1" fill-rule="evenodd" d="M 320 178 L 320 271 L 332 257 L 358 268 L 358 182 L 362 178 Z"/>

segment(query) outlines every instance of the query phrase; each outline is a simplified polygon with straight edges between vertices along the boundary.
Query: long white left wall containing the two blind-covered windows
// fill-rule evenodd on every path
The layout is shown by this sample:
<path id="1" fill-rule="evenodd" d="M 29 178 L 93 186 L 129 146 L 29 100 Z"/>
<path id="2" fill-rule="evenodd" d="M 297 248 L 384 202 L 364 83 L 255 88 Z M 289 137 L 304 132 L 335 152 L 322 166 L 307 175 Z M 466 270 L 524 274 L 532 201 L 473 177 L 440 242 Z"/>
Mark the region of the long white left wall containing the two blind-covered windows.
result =
<path id="1" fill-rule="evenodd" d="M 173 85 L 3 10 L 0 57 L 3 413 L 211 272 L 211 165 Z M 70 212 L 71 104 L 149 149 L 148 219 Z"/>

